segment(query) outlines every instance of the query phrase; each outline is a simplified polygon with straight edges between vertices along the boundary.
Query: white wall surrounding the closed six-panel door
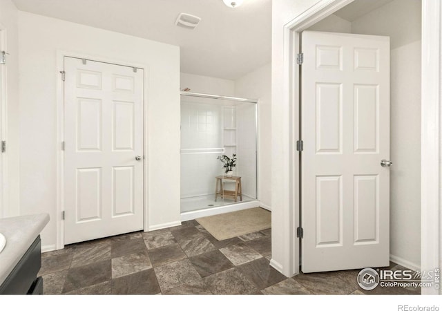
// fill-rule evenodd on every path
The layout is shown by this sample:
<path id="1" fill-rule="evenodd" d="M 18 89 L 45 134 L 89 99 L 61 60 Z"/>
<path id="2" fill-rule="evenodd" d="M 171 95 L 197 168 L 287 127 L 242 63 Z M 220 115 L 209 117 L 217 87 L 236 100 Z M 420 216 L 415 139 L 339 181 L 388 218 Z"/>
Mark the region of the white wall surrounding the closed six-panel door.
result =
<path id="1" fill-rule="evenodd" d="M 19 34 L 21 214 L 50 214 L 41 235 L 44 247 L 55 245 L 59 217 L 57 50 L 146 68 L 148 227 L 179 224 L 179 48 L 28 12 L 19 12 Z"/>

